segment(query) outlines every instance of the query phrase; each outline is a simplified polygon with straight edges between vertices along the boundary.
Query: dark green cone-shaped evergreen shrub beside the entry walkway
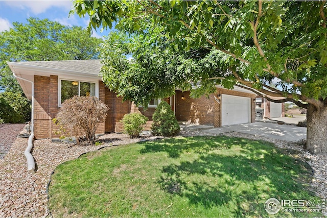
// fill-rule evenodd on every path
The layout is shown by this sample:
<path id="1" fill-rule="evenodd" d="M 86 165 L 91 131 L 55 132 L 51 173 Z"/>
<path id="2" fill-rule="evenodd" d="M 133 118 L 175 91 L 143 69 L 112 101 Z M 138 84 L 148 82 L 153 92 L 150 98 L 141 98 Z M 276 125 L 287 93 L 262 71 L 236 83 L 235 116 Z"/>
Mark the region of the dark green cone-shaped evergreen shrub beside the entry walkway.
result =
<path id="1" fill-rule="evenodd" d="M 180 128 L 176 117 L 167 102 L 162 101 L 159 103 L 153 113 L 152 119 L 151 132 L 153 135 L 174 136 L 179 133 Z"/>

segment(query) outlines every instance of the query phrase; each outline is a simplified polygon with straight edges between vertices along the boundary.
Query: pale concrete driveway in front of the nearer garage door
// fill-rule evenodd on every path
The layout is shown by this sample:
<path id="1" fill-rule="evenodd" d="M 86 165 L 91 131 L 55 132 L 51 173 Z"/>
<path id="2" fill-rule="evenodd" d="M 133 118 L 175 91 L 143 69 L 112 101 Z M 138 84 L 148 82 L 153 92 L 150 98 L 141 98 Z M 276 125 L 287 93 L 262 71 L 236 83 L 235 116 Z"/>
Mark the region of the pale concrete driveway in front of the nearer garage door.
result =
<path id="1" fill-rule="evenodd" d="M 282 139 L 286 141 L 297 141 L 307 137 L 306 127 L 296 127 L 294 125 L 278 125 L 276 123 L 256 122 L 251 124 L 239 124 L 224 126 L 209 130 L 202 130 L 213 134 L 225 132 L 239 132 L 251 135 L 259 135 L 268 138 Z"/>

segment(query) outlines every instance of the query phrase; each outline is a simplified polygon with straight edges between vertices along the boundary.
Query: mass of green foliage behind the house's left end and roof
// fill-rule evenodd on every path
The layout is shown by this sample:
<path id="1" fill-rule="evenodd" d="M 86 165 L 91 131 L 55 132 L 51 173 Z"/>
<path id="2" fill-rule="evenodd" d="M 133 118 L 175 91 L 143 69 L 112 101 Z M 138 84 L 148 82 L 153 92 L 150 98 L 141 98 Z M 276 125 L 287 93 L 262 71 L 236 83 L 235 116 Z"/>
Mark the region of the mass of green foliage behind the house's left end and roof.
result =
<path id="1" fill-rule="evenodd" d="M 31 117 L 30 103 L 6 61 L 97 59 L 102 42 L 82 27 L 66 27 L 48 19 L 27 21 L 14 22 L 13 28 L 0 33 L 0 97 L 25 121 Z"/>

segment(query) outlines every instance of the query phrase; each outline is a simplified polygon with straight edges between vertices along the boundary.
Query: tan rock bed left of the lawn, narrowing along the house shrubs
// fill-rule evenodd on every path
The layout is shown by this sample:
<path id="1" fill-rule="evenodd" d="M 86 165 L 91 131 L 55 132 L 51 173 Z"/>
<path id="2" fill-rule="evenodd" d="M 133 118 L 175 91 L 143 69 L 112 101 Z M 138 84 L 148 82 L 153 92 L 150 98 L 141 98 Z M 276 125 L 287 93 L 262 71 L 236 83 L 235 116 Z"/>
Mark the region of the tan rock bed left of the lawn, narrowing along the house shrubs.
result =
<path id="1" fill-rule="evenodd" d="M 20 130 L 23 127 L 24 125 Z M 6 131 L 9 135 L 9 128 Z M 11 135 L 11 138 L 16 139 L 16 135 Z M 32 154 L 36 160 L 37 170 L 34 174 L 27 172 L 24 156 L 28 139 L 17 138 L 10 152 L 0 160 L 0 217 L 48 216 L 46 186 L 52 172 L 60 163 L 103 147 L 153 138 L 130 139 L 126 134 L 108 134 L 100 137 L 103 141 L 100 146 L 72 146 L 72 144 L 52 143 L 50 139 L 35 140 Z"/>

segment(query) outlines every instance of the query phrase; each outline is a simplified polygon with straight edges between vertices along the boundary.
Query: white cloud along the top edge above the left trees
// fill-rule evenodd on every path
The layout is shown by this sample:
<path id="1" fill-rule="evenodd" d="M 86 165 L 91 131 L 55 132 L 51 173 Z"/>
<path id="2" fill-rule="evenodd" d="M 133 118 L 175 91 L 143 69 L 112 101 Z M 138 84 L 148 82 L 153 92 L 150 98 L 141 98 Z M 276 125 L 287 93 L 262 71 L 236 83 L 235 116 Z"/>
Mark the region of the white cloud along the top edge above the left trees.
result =
<path id="1" fill-rule="evenodd" d="M 13 8 L 28 9 L 34 15 L 46 12 L 51 7 L 58 7 L 69 11 L 72 9 L 71 1 L 7 1 L 7 5 Z"/>

